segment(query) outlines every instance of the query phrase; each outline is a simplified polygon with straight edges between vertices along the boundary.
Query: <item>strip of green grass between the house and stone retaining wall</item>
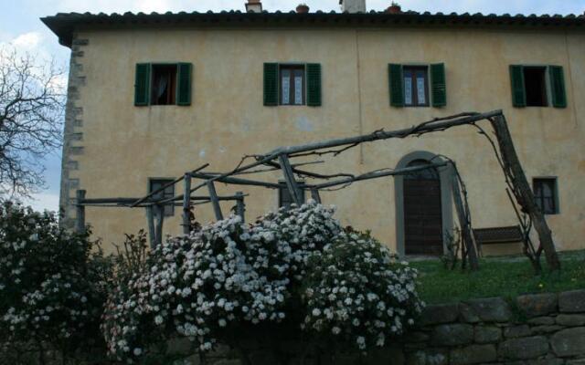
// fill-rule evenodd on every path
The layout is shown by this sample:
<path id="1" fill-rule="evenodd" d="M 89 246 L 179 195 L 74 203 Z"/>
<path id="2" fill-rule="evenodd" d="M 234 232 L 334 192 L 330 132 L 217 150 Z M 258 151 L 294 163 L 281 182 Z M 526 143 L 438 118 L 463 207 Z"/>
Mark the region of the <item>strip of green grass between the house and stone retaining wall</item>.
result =
<path id="1" fill-rule="evenodd" d="M 428 304 L 450 303 L 473 297 L 508 297 L 522 294 L 585 289 L 585 250 L 560 253 L 561 271 L 550 273 L 544 254 L 543 274 L 535 276 L 527 257 L 483 258 L 475 273 L 445 269 L 441 261 L 413 261 L 420 271 L 420 297 Z"/>

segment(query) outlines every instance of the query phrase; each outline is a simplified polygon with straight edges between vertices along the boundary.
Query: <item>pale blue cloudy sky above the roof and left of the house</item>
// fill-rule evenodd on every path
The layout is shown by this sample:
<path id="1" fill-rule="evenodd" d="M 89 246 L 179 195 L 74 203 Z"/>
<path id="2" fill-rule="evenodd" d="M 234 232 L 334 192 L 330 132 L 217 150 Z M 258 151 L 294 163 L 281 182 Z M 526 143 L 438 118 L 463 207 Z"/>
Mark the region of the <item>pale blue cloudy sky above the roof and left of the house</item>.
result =
<path id="1" fill-rule="evenodd" d="M 166 11 L 221 11 L 244 10 L 245 0 L 2 0 L 0 12 L 0 44 L 12 43 L 16 47 L 34 52 L 39 57 L 55 57 L 67 67 L 69 48 L 58 45 L 57 37 L 38 20 L 66 12 L 124 13 Z M 315 10 L 339 10 L 338 0 L 262 0 L 268 11 L 290 11 L 299 3 Z M 8 5 L 6 5 L 6 3 Z M 382 10 L 390 1 L 367 0 L 368 10 Z M 495 14 L 583 14 L 585 0 L 402 0 L 403 10 L 443 13 L 495 13 Z M 47 158 L 48 189 L 37 194 L 31 203 L 37 209 L 58 209 L 60 178 L 60 151 Z"/>

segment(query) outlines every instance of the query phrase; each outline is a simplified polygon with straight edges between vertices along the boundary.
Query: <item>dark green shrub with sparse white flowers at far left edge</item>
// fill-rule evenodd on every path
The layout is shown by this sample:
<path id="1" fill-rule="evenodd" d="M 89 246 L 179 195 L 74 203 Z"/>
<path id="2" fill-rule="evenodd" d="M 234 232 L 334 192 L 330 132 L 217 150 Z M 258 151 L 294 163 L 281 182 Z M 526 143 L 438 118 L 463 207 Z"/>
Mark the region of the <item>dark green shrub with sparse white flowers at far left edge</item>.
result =
<path id="1" fill-rule="evenodd" d="M 3 340 L 50 344 L 64 356 L 99 346 L 90 341 L 99 340 L 112 266 L 88 235 L 67 233 L 54 214 L 0 204 Z"/>

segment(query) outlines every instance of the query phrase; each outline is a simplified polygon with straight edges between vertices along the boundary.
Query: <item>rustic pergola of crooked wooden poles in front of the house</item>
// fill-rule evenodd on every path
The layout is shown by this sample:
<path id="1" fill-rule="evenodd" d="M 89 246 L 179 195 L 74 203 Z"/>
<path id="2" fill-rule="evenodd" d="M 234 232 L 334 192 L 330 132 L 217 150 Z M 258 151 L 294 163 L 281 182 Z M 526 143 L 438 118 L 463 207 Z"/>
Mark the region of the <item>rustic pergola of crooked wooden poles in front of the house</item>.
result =
<path id="1" fill-rule="evenodd" d="M 479 125 L 479 123 L 483 121 L 488 121 L 489 125 L 491 125 L 495 141 L 490 135 L 488 135 L 484 128 Z M 520 206 L 521 212 L 528 214 L 531 223 L 534 224 L 539 237 L 540 248 L 535 250 L 534 247 L 525 247 L 525 253 L 527 253 L 529 257 L 532 256 L 531 260 L 533 260 L 538 258 L 541 250 L 544 250 L 548 265 L 553 270 L 558 269 L 560 264 L 555 245 L 552 241 L 550 229 L 548 228 L 544 215 L 537 206 L 532 190 L 527 182 L 527 177 L 518 160 L 514 143 L 502 110 L 493 110 L 484 113 L 465 112 L 450 117 L 428 120 L 402 130 L 376 130 L 369 134 L 343 139 L 314 141 L 303 145 L 280 147 L 264 154 L 246 155 L 239 161 L 236 167 L 229 172 L 205 172 L 205 169 L 209 166 L 209 164 L 206 163 L 193 171 L 185 172 L 184 175 L 177 177 L 173 182 L 165 184 L 160 189 L 154 190 L 142 198 L 87 199 L 85 197 L 85 191 L 78 191 L 77 229 L 85 229 L 85 206 L 144 208 L 147 212 L 146 215 L 151 237 L 151 245 L 159 245 L 162 242 L 162 227 L 165 219 L 163 208 L 165 204 L 170 203 L 183 207 L 182 225 L 185 234 L 189 233 L 190 212 L 193 204 L 210 203 L 213 207 L 216 219 L 221 220 L 224 215 L 221 211 L 219 202 L 234 201 L 236 202 L 236 213 L 242 216 L 242 218 L 244 217 L 244 197 L 246 194 L 239 192 L 235 195 L 219 196 L 216 192 L 216 183 L 260 186 L 269 189 L 287 188 L 293 198 L 293 202 L 297 204 L 303 203 L 303 190 L 305 190 L 311 193 L 314 200 L 321 203 L 320 191 L 331 188 L 344 188 L 352 183 L 370 179 L 405 175 L 425 169 L 451 167 L 456 172 L 454 173 L 452 182 L 452 191 L 457 217 L 463 234 L 463 254 L 469 258 L 472 269 L 477 269 L 477 249 L 473 239 L 471 214 L 467 204 L 465 185 L 459 172 L 457 172 L 455 162 L 452 162 L 449 158 L 442 156 L 445 161 L 431 162 L 428 165 L 402 169 L 388 168 L 357 175 L 344 172 L 335 174 L 311 172 L 303 169 L 303 165 L 320 162 L 293 162 L 294 159 L 307 156 L 323 156 L 326 154 L 337 156 L 362 143 L 404 139 L 410 136 L 420 137 L 427 133 L 449 130 L 461 126 L 473 126 L 484 135 L 488 141 L 490 141 L 495 151 L 496 159 L 504 172 L 505 182 L 509 188 L 508 192 L 511 192 L 510 198 L 515 205 L 515 209 L 517 203 Z M 254 170 L 260 167 L 262 170 Z M 282 173 L 283 182 L 273 183 L 270 181 L 253 180 L 241 177 L 241 175 L 244 174 L 275 171 Z M 300 184 L 297 182 L 295 176 L 311 179 L 312 181 L 315 181 L 315 183 Z M 183 193 L 166 199 L 155 198 L 158 193 L 163 192 L 167 187 L 181 182 L 183 182 Z M 193 193 L 201 189 L 206 189 L 207 194 L 193 195 Z M 516 200 L 516 202 L 514 202 L 514 200 Z M 527 245 L 527 243 L 525 243 L 525 245 Z"/>

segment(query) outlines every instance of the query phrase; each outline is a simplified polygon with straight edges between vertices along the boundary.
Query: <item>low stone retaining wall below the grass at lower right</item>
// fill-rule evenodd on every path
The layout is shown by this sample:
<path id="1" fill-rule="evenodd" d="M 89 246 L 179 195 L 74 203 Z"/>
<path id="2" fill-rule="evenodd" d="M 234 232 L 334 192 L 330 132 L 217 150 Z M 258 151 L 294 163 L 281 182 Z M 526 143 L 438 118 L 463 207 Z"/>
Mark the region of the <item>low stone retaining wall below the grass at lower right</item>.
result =
<path id="1" fill-rule="evenodd" d="M 254 365 L 273 364 L 253 354 Z M 239 360 L 215 358 L 217 365 Z M 296 364 L 296 361 L 289 364 Z M 402 343 L 367 358 L 305 360 L 322 365 L 585 365 L 585 290 L 473 299 L 430 306 Z"/>

